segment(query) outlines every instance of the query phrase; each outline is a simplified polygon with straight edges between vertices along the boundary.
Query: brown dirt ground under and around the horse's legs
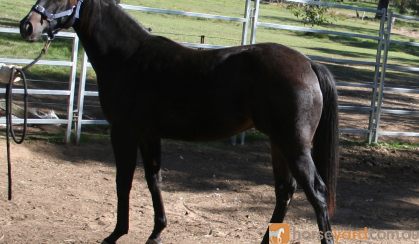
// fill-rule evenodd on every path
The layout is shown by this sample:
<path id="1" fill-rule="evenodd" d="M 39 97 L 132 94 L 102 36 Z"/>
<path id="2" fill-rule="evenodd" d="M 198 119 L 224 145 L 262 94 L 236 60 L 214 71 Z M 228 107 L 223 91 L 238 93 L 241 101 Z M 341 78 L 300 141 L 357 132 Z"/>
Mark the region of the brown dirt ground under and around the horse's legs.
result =
<path id="1" fill-rule="evenodd" d="M 5 152 L 4 140 L 0 144 L 0 152 Z M 419 148 L 342 144 L 334 229 L 367 227 L 376 238 L 396 233 L 405 239 L 338 243 L 419 243 Z M 5 153 L 0 153 L 0 243 L 98 243 L 113 230 L 115 168 L 106 140 L 81 146 L 32 140 L 14 145 L 12 153 L 10 202 Z M 244 146 L 164 141 L 163 197 L 169 226 L 163 242 L 260 242 L 274 207 L 269 155 L 269 144 L 262 139 Z M 301 190 L 286 223 L 291 224 L 293 243 L 318 243 L 306 235 L 317 227 Z M 139 160 L 130 232 L 118 243 L 144 243 L 152 225 Z"/>

